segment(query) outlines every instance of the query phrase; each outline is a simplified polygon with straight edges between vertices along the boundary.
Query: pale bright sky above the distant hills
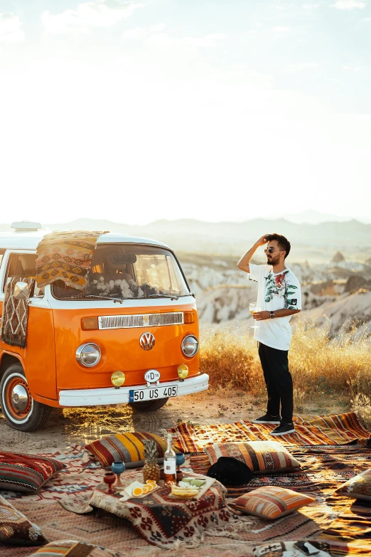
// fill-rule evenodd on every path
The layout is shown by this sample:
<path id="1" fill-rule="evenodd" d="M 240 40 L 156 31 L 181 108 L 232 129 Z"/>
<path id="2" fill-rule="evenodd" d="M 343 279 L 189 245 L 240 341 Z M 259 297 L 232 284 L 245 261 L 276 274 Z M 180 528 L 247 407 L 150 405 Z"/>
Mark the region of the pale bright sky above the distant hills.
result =
<path id="1" fill-rule="evenodd" d="M 1 222 L 370 218 L 371 0 L 0 0 Z"/>

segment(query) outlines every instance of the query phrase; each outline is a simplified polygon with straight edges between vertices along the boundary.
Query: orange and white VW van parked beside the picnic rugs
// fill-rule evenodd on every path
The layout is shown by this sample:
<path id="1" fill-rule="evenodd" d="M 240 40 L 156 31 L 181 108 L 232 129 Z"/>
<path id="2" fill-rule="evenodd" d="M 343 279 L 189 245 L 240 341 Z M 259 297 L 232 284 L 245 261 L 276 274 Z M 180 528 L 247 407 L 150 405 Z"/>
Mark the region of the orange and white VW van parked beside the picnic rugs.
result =
<path id="1" fill-rule="evenodd" d="M 26 221 L 12 228 L 0 234 L 0 313 L 9 281 L 36 277 L 36 248 L 47 233 Z M 62 281 L 30 291 L 17 282 L 15 290 L 28 303 L 26 348 L 0 340 L 1 409 L 13 428 L 40 428 L 52 406 L 158 410 L 170 397 L 208 388 L 195 298 L 167 245 L 104 233 L 85 290 Z"/>

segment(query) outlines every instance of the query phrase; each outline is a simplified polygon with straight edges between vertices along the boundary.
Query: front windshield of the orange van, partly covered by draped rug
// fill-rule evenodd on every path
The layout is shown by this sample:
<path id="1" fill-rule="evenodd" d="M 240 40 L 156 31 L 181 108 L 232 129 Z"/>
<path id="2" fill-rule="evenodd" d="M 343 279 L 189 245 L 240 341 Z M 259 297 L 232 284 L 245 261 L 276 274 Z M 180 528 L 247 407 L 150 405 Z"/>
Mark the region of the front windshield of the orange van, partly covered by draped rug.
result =
<path id="1" fill-rule="evenodd" d="M 151 245 L 98 244 L 85 290 L 61 280 L 52 284 L 56 298 L 87 296 L 117 299 L 184 296 L 190 292 L 173 254 Z"/>

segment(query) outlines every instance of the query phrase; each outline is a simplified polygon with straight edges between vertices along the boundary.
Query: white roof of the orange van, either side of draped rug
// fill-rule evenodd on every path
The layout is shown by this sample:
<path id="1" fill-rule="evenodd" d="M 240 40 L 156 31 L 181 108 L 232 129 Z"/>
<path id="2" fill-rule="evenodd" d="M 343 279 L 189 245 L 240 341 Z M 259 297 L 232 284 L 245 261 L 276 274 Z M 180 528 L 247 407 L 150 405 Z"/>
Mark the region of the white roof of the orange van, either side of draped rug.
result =
<path id="1" fill-rule="evenodd" d="M 0 250 L 36 250 L 38 243 L 41 242 L 45 234 L 49 234 L 52 230 L 35 230 L 34 232 L 2 232 L 0 233 Z M 63 230 L 63 232 L 68 230 Z M 129 236 L 125 234 L 116 234 L 109 232 L 102 234 L 97 243 L 130 243 L 130 244 L 149 244 L 158 245 L 161 248 L 168 248 L 168 245 L 151 240 L 150 238 L 139 238 L 138 236 Z M 168 248 L 170 249 L 170 248 Z"/>

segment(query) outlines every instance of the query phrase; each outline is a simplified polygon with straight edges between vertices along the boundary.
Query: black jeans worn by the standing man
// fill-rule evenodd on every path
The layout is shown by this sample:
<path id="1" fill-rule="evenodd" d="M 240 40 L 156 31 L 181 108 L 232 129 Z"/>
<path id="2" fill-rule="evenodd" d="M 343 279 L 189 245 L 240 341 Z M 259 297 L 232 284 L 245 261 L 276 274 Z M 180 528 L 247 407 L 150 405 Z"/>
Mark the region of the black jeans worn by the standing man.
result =
<path id="1" fill-rule="evenodd" d="M 292 422 L 294 406 L 288 356 L 288 350 L 277 350 L 259 342 L 259 358 L 268 393 L 267 414 L 280 415 L 281 405 L 281 421 L 285 423 Z"/>

